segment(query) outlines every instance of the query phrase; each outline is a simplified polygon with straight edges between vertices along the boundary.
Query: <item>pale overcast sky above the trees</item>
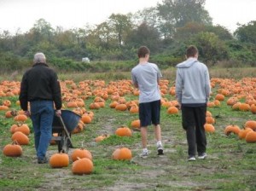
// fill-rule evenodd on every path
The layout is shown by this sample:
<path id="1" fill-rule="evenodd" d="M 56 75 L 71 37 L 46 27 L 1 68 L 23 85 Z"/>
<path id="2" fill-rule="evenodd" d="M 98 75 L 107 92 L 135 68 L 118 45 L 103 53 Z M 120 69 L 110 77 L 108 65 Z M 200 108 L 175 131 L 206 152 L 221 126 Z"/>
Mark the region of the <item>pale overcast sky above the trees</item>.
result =
<path id="1" fill-rule="evenodd" d="M 162 0 L 0 0 L 0 32 L 27 32 L 36 20 L 44 18 L 51 26 L 64 29 L 100 24 L 110 14 L 135 13 L 156 6 Z M 230 32 L 236 23 L 256 20 L 256 0 L 207 0 L 205 8 L 214 25 Z"/>

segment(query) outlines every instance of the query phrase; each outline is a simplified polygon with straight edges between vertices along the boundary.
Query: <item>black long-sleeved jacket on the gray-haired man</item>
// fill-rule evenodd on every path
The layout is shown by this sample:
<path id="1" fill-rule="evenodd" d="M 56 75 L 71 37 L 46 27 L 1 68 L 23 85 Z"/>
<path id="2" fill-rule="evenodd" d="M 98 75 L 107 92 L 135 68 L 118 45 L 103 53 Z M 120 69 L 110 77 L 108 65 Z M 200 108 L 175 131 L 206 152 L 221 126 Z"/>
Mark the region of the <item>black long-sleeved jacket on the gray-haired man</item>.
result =
<path id="1" fill-rule="evenodd" d="M 61 109 L 61 86 L 57 74 L 44 63 L 36 63 L 27 70 L 20 84 L 20 107 L 26 111 L 28 101 L 49 100 Z"/>

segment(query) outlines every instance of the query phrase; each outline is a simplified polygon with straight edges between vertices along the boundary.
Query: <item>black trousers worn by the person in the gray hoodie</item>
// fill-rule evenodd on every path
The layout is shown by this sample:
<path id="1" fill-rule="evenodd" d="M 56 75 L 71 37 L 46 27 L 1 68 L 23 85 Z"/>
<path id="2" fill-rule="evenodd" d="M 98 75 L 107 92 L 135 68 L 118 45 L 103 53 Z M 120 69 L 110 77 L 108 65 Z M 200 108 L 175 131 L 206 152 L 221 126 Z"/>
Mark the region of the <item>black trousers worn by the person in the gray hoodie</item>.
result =
<path id="1" fill-rule="evenodd" d="M 182 107 L 183 129 L 186 130 L 189 145 L 189 156 L 195 153 L 205 153 L 207 150 L 207 136 L 204 129 L 206 124 L 207 106 Z"/>

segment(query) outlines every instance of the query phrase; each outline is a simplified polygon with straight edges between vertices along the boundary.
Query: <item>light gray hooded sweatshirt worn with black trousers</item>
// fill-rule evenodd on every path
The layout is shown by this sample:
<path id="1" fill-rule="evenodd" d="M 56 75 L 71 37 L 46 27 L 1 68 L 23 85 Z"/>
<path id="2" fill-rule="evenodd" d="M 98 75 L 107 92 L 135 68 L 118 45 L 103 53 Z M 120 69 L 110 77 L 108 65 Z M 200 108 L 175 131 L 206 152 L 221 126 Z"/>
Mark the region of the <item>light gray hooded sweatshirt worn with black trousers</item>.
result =
<path id="1" fill-rule="evenodd" d="M 186 105 L 207 103 L 211 93 L 207 66 L 190 57 L 176 67 L 175 91 L 177 101 Z"/>

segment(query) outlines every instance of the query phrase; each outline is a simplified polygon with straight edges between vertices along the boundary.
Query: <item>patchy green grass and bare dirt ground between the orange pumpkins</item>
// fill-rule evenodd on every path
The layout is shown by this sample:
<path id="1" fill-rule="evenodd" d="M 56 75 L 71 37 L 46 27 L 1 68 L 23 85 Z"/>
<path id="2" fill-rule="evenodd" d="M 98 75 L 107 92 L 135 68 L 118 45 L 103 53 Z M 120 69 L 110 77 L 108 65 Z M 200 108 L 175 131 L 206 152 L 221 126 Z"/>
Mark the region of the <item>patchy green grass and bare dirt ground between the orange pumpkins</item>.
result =
<path id="1" fill-rule="evenodd" d="M 231 76 L 233 70 L 226 72 L 225 78 Z M 236 76 L 245 75 L 247 72 L 236 71 Z M 169 87 L 173 86 L 174 70 L 163 72 L 170 75 Z M 253 72 L 252 72 L 253 73 Z M 216 74 L 216 75 L 214 75 Z M 212 71 L 211 76 L 219 78 L 224 75 L 221 71 Z M 78 74 L 73 76 L 77 84 L 86 78 L 107 78 L 108 81 L 119 78 L 130 78 L 125 74 Z M 234 74 L 235 75 L 235 74 Z M 250 74 L 253 75 L 253 74 Z M 73 79 L 69 75 L 61 74 L 64 80 Z M 109 79 L 111 78 L 111 79 Z M 224 78 L 224 77 L 223 77 Z M 73 79 L 74 80 L 74 79 Z M 107 80 L 106 80 L 107 81 Z M 237 78 L 236 83 L 242 80 Z M 106 83 L 107 85 L 108 83 Z M 246 84 L 244 84 L 246 86 Z M 92 90 L 96 87 L 91 87 Z M 220 84 L 212 89 L 212 98 L 223 89 Z M 69 90 L 72 90 L 71 87 Z M 232 96 L 232 95 L 231 95 Z M 71 136 L 73 146 L 88 149 L 93 155 L 94 171 L 90 175 L 76 176 L 71 171 L 72 162 L 65 168 L 52 169 L 49 164 L 38 165 L 34 151 L 33 134 L 29 135 L 29 145 L 22 146 L 23 154 L 18 158 L 9 158 L 0 154 L 0 190 L 255 190 L 256 189 L 256 143 L 247 143 L 240 140 L 236 135 L 224 135 L 227 125 L 236 124 L 243 128 L 247 120 L 255 120 L 255 114 L 232 110 L 226 101 L 226 96 L 219 107 L 208 107 L 215 119 L 215 132 L 207 133 L 207 159 L 195 162 L 187 161 L 187 142 L 185 132 L 181 126 L 181 113 L 170 115 L 166 107 L 161 108 L 162 141 L 165 154 L 156 154 L 153 127 L 148 127 L 148 149 L 150 154 L 147 159 L 138 155 L 141 153 L 140 132 L 133 130 L 131 137 L 115 136 L 115 130 L 126 125 L 131 127 L 131 121 L 138 119 L 137 114 L 129 111 L 119 112 L 109 107 L 110 98 L 106 100 L 105 107 L 98 110 L 90 110 L 90 103 L 96 96 L 89 96 L 84 100 L 87 111 L 94 113 L 90 124 L 78 134 Z M 137 96 L 127 94 L 126 101 L 137 100 Z M 163 95 L 167 100 L 174 101 L 175 97 L 170 94 Z M 0 97 L 12 102 L 11 109 L 19 110 L 15 104 L 17 96 Z M 245 101 L 244 97 L 240 101 Z M 66 102 L 64 103 L 66 104 Z M 1 104 L 0 104 L 1 105 Z M 11 142 L 10 126 L 15 124 L 13 118 L 6 119 L 5 111 L 0 111 L 0 149 Z M 31 120 L 27 124 L 32 130 Z M 108 139 L 95 142 L 96 136 L 108 134 Z M 131 149 L 131 161 L 118 161 L 112 159 L 112 153 L 116 148 L 127 147 Z M 68 154 L 73 152 L 70 148 Z M 56 145 L 49 146 L 48 156 L 57 153 Z"/>

